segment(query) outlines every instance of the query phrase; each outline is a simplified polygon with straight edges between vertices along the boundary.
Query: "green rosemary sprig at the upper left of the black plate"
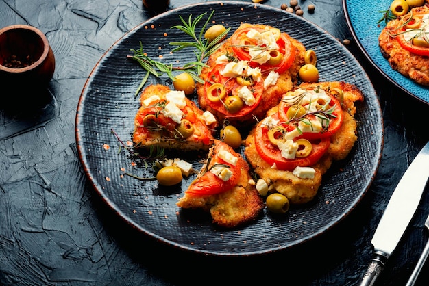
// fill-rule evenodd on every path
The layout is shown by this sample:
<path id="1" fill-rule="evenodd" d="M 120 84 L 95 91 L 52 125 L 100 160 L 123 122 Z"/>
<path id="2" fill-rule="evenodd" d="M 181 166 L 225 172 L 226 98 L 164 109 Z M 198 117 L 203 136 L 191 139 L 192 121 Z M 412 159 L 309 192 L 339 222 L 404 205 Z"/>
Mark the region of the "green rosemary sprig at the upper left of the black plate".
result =
<path id="1" fill-rule="evenodd" d="M 191 48 L 193 49 L 193 53 L 195 54 L 196 60 L 192 62 L 188 62 L 184 64 L 183 66 L 173 66 L 173 64 L 166 64 L 160 60 L 154 60 L 151 57 L 145 53 L 145 50 L 143 48 L 143 44 L 140 42 L 140 49 L 132 49 L 131 51 L 134 52 L 134 55 L 128 55 L 127 58 L 130 58 L 132 60 L 136 60 L 140 66 L 146 70 L 145 77 L 143 77 L 142 81 L 140 82 L 140 86 L 138 86 L 138 90 L 136 90 L 135 96 L 138 95 L 138 92 L 145 86 L 147 83 L 147 80 L 149 79 L 150 75 L 153 75 L 155 77 L 161 77 L 162 75 L 167 75 L 169 79 L 175 80 L 173 72 L 174 71 L 184 71 L 191 75 L 193 79 L 199 83 L 204 83 L 204 81 L 199 77 L 201 74 L 201 70 L 206 64 L 204 63 L 204 60 L 206 60 L 207 57 L 212 55 L 212 53 L 215 53 L 217 49 L 222 44 L 223 38 L 225 38 L 226 34 L 228 34 L 228 31 L 230 31 L 230 27 L 223 31 L 217 38 L 215 38 L 212 41 L 208 41 L 206 38 L 204 38 L 204 33 L 206 31 L 206 27 L 208 23 L 210 23 L 210 19 L 212 18 L 213 14 L 215 13 L 215 10 L 211 12 L 211 14 L 208 16 L 206 22 L 202 25 L 201 29 L 197 31 L 197 26 L 199 25 L 200 21 L 204 16 L 206 16 L 207 13 L 203 13 L 195 18 L 193 18 L 193 15 L 189 15 L 187 21 L 180 17 L 180 21 L 182 21 L 182 25 L 175 25 L 171 27 L 171 29 L 179 29 L 180 31 L 183 31 L 186 35 L 191 36 L 192 41 L 186 42 L 186 41 L 180 41 L 180 42 L 170 42 L 169 44 L 171 46 L 175 46 L 175 48 L 171 51 L 171 53 L 177 53 L 179 51 L 182 51 L 185 48 Z"/>

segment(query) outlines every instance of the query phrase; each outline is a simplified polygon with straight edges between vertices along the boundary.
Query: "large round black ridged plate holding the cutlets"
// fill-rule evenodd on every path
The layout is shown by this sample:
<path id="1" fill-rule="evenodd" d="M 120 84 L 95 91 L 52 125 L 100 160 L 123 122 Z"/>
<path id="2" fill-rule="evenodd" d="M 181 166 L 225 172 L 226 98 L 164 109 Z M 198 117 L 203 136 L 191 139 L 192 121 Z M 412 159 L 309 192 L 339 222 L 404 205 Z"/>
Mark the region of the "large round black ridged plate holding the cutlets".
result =
<path id="1" fill-rule="evenodd" d="M 188 18 L 215 10 L 213 20 L 233 30 L 240 23 L 262 23 L 279 27 L 318 55 L 321 81 L 354 83 L 365 94 L 358 104 L 359 122 L 354 149 L 347 159 L 334 164 L 312 203 L 291 207 L 286 216 L 273 217 L 265 211 L 249 225 L 219 229 L 209 216 L 176 207 L 192 177 L 173 188 L 158 187 L 124 175 L 150 176 L 150 169 L 132 166 L 132 159 L 117 140 L 131 140 L 139 103 L 134 92 L 144 70 L 132 60 L 130 49 L 143 42 L 151 57 L 165 62 L 186 62 L 191 53 L 169 54 L 169 42 L 183 40 L 181 31 L 170 29 Z M 158 81 L 156 81 L 158 80 Z M 166 83 L 167 78 L 151 79 Z M 112 133 L 114 131 L 114 133 Z M 126 34 L 104 55 L 90 75 L 79 101 L 76 138 L 85 172 L 106 203 L 126 222 L 162 242 L 212 255 L 256 255 L 302 244 L 327 231 L 345 218 L 371 184 L 382 152 L 380 104 L 363 68 L 332 36 L 293 14 L 265 5 L 241 2 L 211 2 L 189 5 L 160 14 Z M 120 153 L 119 153 L 120 151 Z M 172 155 L 171 157 L 177 157 Z M 187 157 L 195 168 L 199 157 Z"/>

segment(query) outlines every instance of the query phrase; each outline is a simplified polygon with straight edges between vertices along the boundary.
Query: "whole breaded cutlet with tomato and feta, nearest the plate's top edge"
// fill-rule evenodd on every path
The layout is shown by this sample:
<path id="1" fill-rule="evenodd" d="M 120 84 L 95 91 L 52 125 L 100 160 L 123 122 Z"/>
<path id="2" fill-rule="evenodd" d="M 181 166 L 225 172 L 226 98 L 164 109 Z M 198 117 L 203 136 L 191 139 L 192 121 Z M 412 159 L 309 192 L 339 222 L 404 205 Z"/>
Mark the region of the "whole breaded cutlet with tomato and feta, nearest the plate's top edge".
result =
<path id="1" fill-rule="evenodd" d="M 242 24 L 212 54 L 197 84 L 201 109 L 236 127 L 254 124 L 297 83 L 304 45 L 279 29 Z"/>

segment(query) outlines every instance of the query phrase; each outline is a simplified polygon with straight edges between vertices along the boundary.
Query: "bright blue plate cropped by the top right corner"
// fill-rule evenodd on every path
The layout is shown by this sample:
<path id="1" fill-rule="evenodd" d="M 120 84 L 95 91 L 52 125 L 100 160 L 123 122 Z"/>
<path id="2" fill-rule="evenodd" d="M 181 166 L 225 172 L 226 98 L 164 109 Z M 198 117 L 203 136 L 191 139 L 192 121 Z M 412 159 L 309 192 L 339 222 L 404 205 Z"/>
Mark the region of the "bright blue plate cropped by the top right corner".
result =
<path id="1" fill-rule="evenodd" d="M 378 24 L 378 21 L 382 18 L 382 13 L 379 11 L 389 9 L 391 2 L 391 0 L 343 0 L 347 25 L 349 25 L 359 48 L 384 77 L 398 88 L 404 90 L 404 92 L 429 104 L 429 87 L 421 86 L 393 70 L 389 62 L 383 57 L 378 46 L 378 35 L 386 25 L 384 21 Z"/>

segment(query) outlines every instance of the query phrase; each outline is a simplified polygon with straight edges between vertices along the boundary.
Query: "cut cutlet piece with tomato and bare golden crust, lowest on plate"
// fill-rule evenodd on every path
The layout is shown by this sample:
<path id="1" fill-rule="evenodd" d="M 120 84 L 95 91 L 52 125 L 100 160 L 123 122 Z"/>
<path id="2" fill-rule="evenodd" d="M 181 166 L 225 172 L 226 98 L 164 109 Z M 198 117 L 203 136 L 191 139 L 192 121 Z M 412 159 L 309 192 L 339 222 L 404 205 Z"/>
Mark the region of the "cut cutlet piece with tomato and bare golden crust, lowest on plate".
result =
<path id="1" fill-rule="evenodd" d="M 249 184 L 247 161 L 228 144 L 215 140 L 197 179 L 177 206 L 210 212 L 215 224 L 234 227 L 256 219 L 264 207 L 254 185 Z"/>

